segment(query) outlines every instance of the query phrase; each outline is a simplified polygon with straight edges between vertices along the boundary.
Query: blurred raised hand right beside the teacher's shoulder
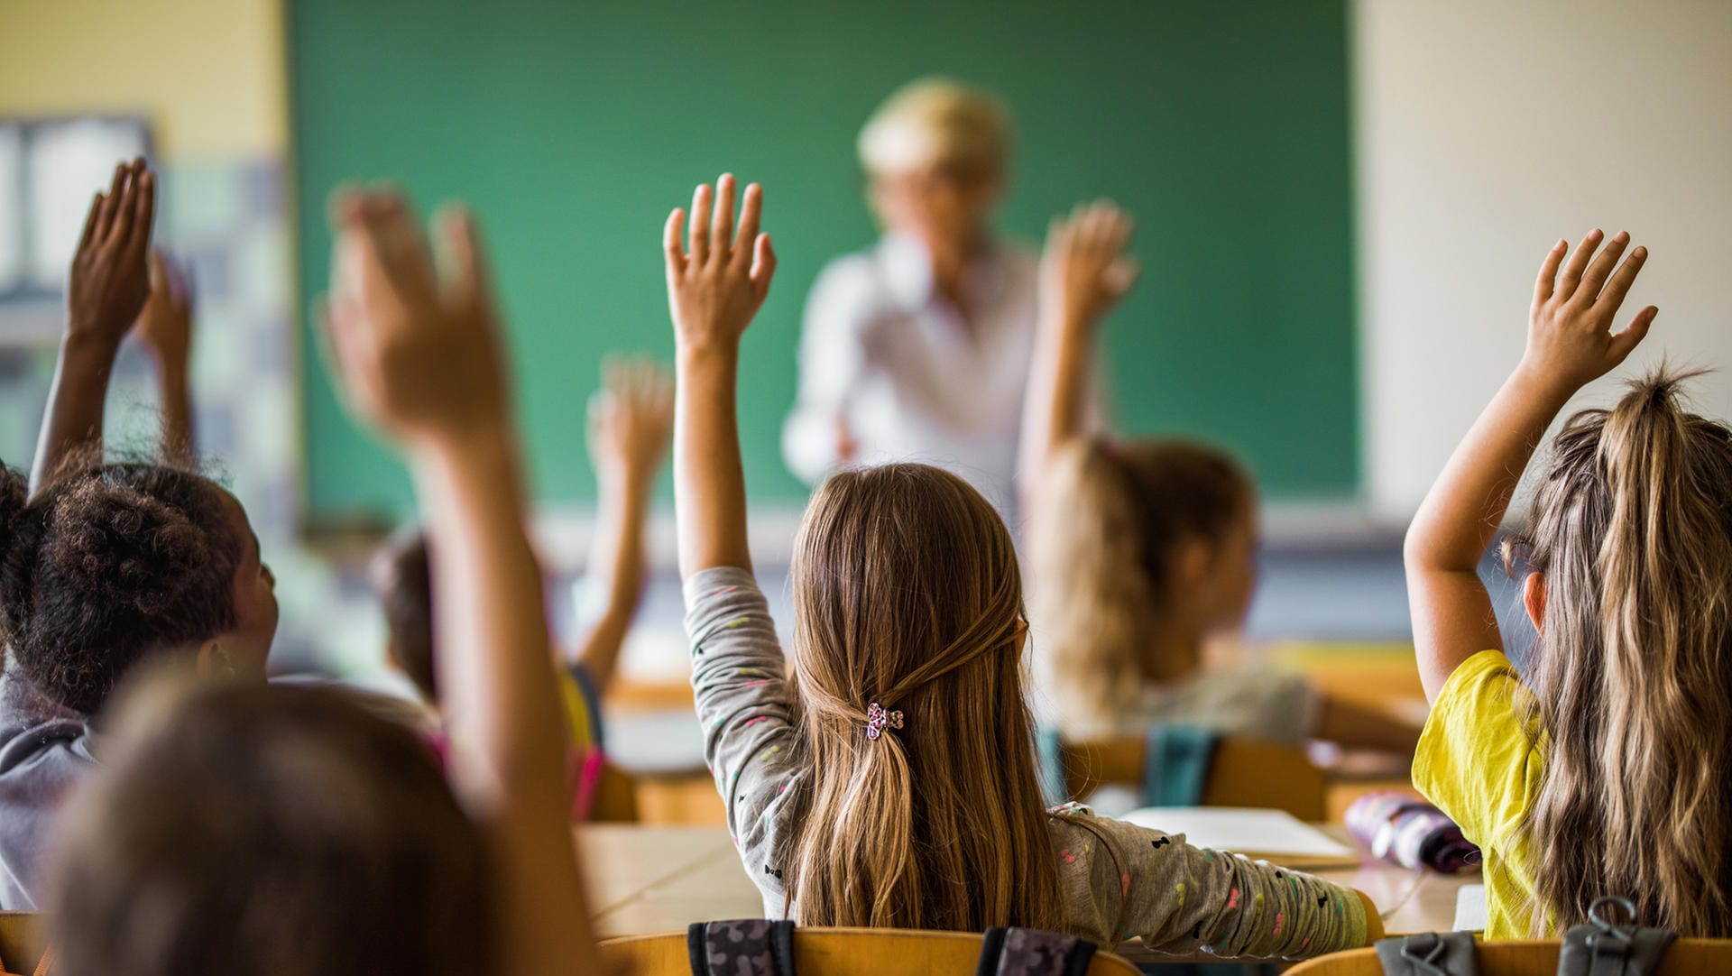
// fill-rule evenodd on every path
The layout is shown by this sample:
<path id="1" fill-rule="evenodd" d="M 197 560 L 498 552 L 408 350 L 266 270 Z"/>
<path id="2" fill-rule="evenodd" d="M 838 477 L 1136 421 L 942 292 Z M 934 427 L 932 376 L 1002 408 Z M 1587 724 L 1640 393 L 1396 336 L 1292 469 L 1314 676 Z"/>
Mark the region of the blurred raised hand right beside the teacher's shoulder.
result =
<path id="1" fill-rule="evenodd" d="M 1091 327 L 1136 284 L 1136 261 L 1124 254 L 1131 216 L 1112 201 L 1077 204 L 1055 218 L 1041 254 L 1041 301 L 1067 327 Z"/>

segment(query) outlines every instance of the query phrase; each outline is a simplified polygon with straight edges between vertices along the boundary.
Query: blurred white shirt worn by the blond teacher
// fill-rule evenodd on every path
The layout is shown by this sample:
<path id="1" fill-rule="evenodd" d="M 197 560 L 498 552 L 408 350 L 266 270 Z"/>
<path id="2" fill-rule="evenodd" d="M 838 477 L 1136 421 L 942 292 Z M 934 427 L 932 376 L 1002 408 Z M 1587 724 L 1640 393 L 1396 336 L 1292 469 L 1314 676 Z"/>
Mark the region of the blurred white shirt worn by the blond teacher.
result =
<path id="1" fill-rule="evenodd" d="M 1037 266 L 1032 251 L 994 242 L 965 273 L 965 320 L 934 291 L 916 241 L 887 235 L 831 261 L 805 301 L 800 393 L 781 440 L 788 467 L 814 485 L 830 474 L 845 415 L 852 464 L 944 467 L 1015 528 Z"/>

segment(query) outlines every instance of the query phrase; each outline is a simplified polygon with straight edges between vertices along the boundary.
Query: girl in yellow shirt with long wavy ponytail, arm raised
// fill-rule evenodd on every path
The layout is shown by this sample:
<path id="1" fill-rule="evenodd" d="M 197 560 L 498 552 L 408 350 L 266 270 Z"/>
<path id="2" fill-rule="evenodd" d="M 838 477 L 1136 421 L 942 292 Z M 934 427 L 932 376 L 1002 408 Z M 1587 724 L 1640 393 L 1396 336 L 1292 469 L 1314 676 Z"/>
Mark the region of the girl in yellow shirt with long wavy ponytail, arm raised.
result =
<path id="1" fill-rule="evenodd" d="M 1602 895 L 1644 924 L 1732 936 L 1732 429 L 1678 405 L 1661 370 L 1571 417 L 1526 530 L 1526 673 L 1503 656 L 1476 568 L 1564 403 L 1658 313 L 1611 332 L 1647 260 L 1600 232 L 1547 254 L 1528 350 L 1406 538 L 1432 701 L 1413 782 L 1486 857 L 1490 938 L 1557 933 Z M 1559 275 L 1562 268 L 1562 275 Z M 1614 270 L 1616 268 L 1616 270 Z"/>

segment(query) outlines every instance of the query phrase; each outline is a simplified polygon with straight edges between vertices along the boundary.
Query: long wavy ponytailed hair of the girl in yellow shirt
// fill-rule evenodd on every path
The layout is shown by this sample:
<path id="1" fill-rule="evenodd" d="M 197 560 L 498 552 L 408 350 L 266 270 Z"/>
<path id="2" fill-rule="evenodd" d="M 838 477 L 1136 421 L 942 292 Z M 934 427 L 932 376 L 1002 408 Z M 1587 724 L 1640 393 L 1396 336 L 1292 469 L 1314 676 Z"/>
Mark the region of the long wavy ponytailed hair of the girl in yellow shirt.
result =
<path id="1" fill-rule="evenodd" d="M 1732 431 L 1680 408 L 1692 376 L 1571 417 L 1519 540 L 1547 590 L 1536 933 L 1621 895 L 1732 936 Z"/>

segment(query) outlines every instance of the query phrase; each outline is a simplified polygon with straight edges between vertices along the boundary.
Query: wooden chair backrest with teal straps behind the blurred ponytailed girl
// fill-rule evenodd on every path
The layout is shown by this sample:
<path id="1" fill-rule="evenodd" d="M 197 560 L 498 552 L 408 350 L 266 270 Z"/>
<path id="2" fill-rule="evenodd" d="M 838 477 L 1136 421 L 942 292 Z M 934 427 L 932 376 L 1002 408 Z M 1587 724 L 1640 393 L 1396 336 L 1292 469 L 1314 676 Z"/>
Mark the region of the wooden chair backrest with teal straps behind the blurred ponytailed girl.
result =
<path id="1" fill-rule="evenodd" d="M 1067 741 L 1060 746 L 1069 796 L 1088 796 L 1102 784 L 1143 782 L 1148 741 Z M 1328 815 L 1328 777 L 1304 749 L 1259 739 L 1223 737 L 1209 761 L 1204 806 L 1264 806 L 1285 810 L 1306 822 Z"/>

